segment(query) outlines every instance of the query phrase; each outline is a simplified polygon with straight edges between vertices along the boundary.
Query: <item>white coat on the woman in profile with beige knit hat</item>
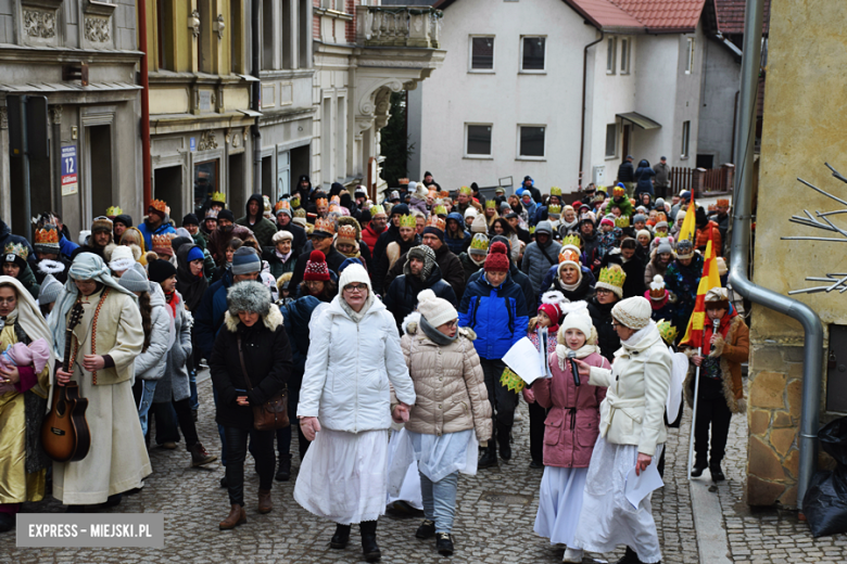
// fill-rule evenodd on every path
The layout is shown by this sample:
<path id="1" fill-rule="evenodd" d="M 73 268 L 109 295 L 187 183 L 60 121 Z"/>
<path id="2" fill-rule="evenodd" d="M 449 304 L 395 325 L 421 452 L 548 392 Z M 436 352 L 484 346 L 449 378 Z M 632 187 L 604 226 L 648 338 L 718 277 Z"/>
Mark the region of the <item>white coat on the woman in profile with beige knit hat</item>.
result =
<path id="1" fill-rule="evenodd" d="M 667 440 L 665 403 L 672 359 L 656 323 L 642 330 L 635 345 L 621 343 L 611 370 L 592 367 L 589 383 L 608 387 L 601 403 L 601 436 L 615 445 L 636 445 L 654 456 Z"/>

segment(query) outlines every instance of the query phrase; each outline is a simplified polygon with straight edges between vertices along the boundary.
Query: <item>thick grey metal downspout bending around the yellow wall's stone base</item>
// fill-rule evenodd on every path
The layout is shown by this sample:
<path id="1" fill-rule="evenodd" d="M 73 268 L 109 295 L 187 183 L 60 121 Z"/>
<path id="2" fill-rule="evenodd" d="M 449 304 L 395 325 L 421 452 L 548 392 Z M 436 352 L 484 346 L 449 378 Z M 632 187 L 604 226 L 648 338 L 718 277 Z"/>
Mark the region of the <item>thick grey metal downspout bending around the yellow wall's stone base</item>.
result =
<path id="1" fill-rule="evenodd" d="M 814 473 L 818 457 L 817 433 L 820 424 L 821 382 L 823 377 L 823 324 L 809 306 L 766 287 L 748 278 L 750 221 L 753 206 L 753 154 L 756 130 L 761 56 L 761 25 L 763 0 L 747 0 L 744 16 L 744 49 L 742 56 L 741 105 L 736 139 L 737 182 L 732 216 L 732 247 L 730 282 L 735 292 L 750 302 L 796 319 L 805 332 L 802 357 L 802 413 L 800 414 L 800 465 L 797 484 L 797 508 L 802 510 L 802 498 Z"/>

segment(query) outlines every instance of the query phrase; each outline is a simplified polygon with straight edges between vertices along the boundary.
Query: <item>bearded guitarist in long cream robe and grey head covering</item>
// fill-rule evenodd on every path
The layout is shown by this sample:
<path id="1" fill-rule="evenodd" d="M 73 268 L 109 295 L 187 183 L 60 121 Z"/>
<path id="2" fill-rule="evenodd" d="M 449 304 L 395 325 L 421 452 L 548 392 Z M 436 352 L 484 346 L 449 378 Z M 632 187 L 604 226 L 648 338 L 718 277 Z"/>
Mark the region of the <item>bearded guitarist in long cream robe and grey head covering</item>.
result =
<path id="1" fill-rule="evenodd" d="M 53 497 L 65 505 L 112 507 L 152 472 L 132 397 L 134 361 L 144 343 L 141 313 L 136 295 L 110 275 L 103 260 L 80 253 L 50 316 L 56 356 L 64 356 L 65 328 L 77 303 L 83 316 L 72 338 L 86 355 L 56 374 L 60 383 L 73 377 L 88 399 L 91 446 L 83 460 L 53 463 Z"/>

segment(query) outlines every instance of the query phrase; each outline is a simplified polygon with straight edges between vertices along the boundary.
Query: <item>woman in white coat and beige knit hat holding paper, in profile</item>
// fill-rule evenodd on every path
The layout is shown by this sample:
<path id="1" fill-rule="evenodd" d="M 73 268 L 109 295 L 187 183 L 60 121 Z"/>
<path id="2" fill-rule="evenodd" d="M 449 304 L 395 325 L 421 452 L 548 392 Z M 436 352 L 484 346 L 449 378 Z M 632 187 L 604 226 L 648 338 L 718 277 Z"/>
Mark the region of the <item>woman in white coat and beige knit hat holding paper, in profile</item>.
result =
<path id="1" fill-rule="evenodd" d="M 619 302 L 611 310 L 621 348 L 611 370 L 581 360 L 580 375 L 593 386 L 608 387 L 601 405 L 601 436 L 594 447 L 574 543 L 592 552 L 610 552 L 627 544 L 619 564 L 661 561 L 650 496 L 639 507 L 623 495 L 627 475 L 636 474 L 661 456 L 667 432 L 665 403 L 672 360 L 650 305 L 641 296 Z"/>

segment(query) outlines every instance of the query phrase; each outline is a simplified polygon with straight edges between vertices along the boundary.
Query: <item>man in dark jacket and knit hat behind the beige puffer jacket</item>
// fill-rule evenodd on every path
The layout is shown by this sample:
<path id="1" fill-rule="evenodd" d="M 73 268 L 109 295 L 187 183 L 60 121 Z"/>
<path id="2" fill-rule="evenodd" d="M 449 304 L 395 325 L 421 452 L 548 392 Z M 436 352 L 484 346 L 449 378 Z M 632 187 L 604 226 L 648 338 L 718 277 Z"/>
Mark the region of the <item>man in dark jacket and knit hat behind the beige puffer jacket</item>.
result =
<path id="1" fill-rule="evenodd" d="M 435 262 L 435 252 L 427 245 L 412 247 L 406 253 L 403 265 L 403 273 L 391 282 L 382 302 L 394 316 L 397 322 L 397 332 L 403 320 L 415 311 L 418 306 L 418 294 L 423 290 L 431 290 L 435 296 L 450 302 L 453 307 L 458 307 L 458 300 L 453 289 L 441 278 L 441 269 Z"/>

